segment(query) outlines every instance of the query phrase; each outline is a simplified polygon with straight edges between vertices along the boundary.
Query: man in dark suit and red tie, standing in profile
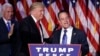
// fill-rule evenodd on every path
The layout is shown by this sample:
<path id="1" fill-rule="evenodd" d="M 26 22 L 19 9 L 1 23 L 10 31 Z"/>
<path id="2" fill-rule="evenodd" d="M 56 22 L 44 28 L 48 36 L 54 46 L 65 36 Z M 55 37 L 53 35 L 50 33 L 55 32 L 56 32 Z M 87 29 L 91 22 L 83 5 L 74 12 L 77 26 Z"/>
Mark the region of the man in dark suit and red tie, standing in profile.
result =
<path id="1" fill-rule="evenodd" d="M 26 56 L 29 56 L 29 43 L 43 43 L 43 34 L 40 25 L 43 13 L 44 5 L 41 2 L 34 2 L 30 7 L 30 15 L 24 18 L 20 23 L 21 52 Z"/>

